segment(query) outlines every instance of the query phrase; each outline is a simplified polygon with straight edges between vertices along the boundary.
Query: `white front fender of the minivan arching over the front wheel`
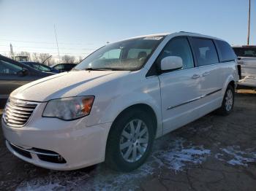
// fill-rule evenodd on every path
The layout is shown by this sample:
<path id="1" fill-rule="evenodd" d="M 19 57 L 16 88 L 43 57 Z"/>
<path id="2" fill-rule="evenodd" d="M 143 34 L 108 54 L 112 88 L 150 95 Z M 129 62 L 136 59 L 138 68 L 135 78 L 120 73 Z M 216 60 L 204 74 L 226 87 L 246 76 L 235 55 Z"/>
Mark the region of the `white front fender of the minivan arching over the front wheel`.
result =
<path id="1" fill-rule="evenodd" d="M 157 137 L 162 135 L 161 95 L 158 77 L 124 80 L 108 86 L 108 94 L 98 93 L 87 126 L 113 122 L 118 114 L 135 104 L 146 104 L 157 117 Z M 105 85 L 106 86 L 106 85 Z"/>

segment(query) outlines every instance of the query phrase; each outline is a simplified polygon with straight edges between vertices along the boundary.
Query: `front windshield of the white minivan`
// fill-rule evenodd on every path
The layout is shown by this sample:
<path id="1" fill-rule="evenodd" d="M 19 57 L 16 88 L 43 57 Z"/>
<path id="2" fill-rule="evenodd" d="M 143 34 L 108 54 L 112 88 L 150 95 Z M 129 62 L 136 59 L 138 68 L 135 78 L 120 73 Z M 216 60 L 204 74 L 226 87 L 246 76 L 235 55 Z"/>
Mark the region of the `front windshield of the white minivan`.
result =
<path id="1" fill-rule="evenodd" d="M 148 36 L 108 44 L 85 58 L 75 70 L 138 70 L 148 61 L 163 37 Z"/>

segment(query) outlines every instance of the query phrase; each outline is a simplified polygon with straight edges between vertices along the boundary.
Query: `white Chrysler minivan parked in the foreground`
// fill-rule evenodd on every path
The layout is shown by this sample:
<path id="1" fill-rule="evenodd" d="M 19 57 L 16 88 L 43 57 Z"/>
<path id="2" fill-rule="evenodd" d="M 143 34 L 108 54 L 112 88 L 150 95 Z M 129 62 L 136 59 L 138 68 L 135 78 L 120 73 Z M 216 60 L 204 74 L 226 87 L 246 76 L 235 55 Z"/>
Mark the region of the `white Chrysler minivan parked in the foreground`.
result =
<path id="1" fill-rule="evenodd" d="M 73 170 L 105 161 L 132 171 L 154 139 L 216 109 L 230 114 L 237 82 L 236 55 L 221 39 L 138 36 L 19 87 L 1 126 L 10 152 L 34 165 Z"/>

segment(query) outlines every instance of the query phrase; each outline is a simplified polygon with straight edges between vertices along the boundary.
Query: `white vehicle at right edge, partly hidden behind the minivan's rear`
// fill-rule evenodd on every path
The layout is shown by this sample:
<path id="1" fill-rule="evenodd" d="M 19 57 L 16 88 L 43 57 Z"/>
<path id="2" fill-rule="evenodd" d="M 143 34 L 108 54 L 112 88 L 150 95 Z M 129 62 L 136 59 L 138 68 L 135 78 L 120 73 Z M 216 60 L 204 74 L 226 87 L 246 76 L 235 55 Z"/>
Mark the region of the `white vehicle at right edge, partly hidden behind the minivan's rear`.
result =
<path id="1" fill-rule="evenodd" d="M 240 87 L 256 88 L 256 46 L 236 46 L 233 50 L 238 56 L 238 64 L 241 66 Z"/>

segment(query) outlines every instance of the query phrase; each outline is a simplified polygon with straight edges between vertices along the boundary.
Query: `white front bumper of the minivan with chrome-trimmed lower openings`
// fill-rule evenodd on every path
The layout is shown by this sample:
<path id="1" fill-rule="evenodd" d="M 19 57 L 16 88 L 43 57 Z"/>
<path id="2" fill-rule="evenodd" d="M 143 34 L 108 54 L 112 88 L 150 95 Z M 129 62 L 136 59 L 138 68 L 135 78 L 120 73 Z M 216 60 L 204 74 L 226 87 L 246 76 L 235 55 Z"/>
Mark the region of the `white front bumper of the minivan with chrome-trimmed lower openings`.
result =
<path id="1" fill-rule="evenodd" d="M 86 117 L 70 122 L 55 118 L 40 120 L 22 128 L 10 128 L 1 121 L 7 148 L 12 154 L 34 165 L 63 171 L 84 168 L 105 160 L 111 123 L 86 127 Z M 29 152 L 31 157 L 19 152 L 17 147 Z M 56 160 L 43 158 L 49 158 L 49 154 Z"/>

